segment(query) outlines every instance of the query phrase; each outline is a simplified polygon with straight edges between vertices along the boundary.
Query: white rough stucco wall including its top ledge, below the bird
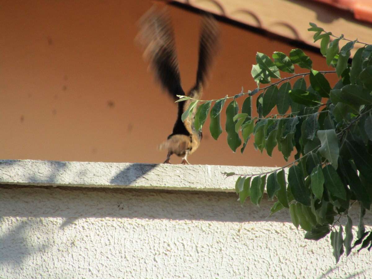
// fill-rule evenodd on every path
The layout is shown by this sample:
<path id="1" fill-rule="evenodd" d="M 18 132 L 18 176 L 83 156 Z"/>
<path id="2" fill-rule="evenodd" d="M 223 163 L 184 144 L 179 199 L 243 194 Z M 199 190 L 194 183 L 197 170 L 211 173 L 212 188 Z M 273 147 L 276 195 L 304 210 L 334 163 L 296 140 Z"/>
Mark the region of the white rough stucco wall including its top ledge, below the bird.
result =
<path id="1" fill-rule="evenodd" d="M 371 278 L 366 249 L 335 264 L 266 196 L 241 207 L 232 169 L 0 161 L 0 278 Z"/>

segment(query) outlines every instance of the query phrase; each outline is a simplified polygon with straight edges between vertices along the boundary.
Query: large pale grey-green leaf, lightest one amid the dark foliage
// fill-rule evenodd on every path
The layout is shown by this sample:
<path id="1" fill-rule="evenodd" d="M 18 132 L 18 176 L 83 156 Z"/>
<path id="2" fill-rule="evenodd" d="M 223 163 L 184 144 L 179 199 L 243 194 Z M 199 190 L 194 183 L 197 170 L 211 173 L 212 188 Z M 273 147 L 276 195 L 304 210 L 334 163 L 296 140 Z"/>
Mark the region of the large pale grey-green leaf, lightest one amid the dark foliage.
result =
<path id="1" fill-rule="evenodd" d="M 321 147 L 319 148 L 320 154 L 327 158 L 334 169 L 337 170 L 340 148 L 336 131 L 334 129 L 318 130 L 317 135 L 321 142 Z"/>

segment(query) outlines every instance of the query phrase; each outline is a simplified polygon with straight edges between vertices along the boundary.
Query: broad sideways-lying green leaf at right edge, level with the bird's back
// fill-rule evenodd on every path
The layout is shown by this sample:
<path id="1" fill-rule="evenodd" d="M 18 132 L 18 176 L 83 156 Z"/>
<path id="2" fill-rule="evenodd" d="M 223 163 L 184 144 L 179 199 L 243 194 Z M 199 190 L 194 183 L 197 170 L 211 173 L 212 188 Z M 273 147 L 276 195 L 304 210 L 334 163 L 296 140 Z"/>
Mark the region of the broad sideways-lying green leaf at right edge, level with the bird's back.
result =
<path id="1" fill-rule="evenodd" d="M 340 97 L 344 102 L 349 102 L 352 105 L 371 105 L 372 96 L 370 91 L 356 84 L 347 84 L 341 89 Z"/>

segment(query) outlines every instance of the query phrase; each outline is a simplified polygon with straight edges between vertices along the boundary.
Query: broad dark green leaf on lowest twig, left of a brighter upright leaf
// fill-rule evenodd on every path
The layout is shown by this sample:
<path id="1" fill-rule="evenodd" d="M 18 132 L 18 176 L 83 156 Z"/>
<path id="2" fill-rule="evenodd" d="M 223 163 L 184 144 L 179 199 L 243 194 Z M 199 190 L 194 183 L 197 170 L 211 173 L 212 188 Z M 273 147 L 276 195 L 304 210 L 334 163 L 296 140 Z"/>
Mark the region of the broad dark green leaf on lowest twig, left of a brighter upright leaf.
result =
<path id="1" fill-rule="evenodd" d="M 291 192 L 295 200 L 310 206 L 310 192 L 305 186 L 304 173 L 299 166 L 293 165 L 289 168 L 288 183 L 291 185 Z"/>

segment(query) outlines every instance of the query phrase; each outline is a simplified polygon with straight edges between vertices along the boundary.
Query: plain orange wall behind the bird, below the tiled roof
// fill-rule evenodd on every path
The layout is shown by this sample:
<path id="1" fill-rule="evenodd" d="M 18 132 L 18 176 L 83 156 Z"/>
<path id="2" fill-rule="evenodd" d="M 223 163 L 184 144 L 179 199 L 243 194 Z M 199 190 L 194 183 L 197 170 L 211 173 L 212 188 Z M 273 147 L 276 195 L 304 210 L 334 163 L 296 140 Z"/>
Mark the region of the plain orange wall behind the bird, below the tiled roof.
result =
<path id="1" fill-rule="evenodd" d="M 161 163 L 156 147 L 171 133 L 176 105 L 161 92 L 134 43 L 147 0 L 0 1 L 0 158 Z M 184 90 L 196 74 L 199 16 L 169 7 Z M 286 54 L 293 46 L 219 23 L 222 51 L 203 99 L 256 87 L 257 51 Z M 317 70 L 327 70 L 307 51 Z M 232 153 L 225 132 L 203 129 L 191 164 L 281 166 L 248 144 Z M 224 128 L 224 126 L 223 126 Z M 172 157 L 173 163 L 181 159 Z"/>

